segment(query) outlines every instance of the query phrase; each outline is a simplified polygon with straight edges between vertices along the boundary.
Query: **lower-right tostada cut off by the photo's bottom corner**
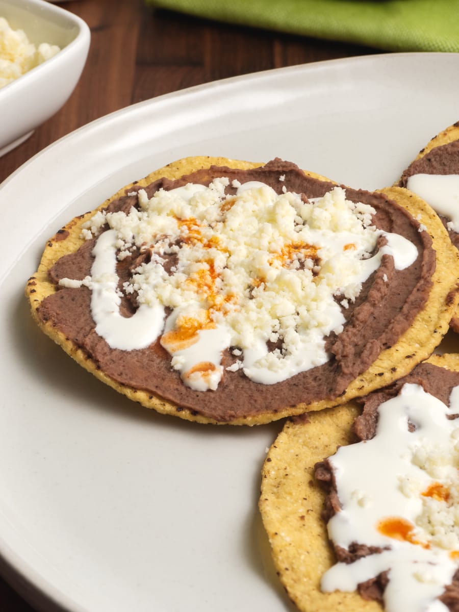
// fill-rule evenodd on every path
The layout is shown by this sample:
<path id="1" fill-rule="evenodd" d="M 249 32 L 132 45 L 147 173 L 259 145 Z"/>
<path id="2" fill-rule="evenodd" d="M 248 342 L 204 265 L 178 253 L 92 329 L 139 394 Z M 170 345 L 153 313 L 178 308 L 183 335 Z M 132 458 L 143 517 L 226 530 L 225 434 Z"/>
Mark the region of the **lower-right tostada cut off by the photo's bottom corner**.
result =
<path id="1" fill-rule="evenodd" d="M 259 509 L 301 612 L 458 609 L 458 417 L 459 355 L 446 354 L 286 422 Z"/>

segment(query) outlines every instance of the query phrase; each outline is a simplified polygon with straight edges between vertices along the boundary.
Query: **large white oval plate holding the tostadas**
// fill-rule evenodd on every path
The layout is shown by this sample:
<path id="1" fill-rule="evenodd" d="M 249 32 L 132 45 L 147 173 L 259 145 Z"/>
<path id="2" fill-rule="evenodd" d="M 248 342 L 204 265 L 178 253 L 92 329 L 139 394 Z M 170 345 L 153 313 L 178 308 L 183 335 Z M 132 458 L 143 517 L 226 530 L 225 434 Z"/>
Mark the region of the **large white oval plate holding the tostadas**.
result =
<path id="1" fill-rule="evenodd" d="M 211 83 L 92 122 L 0 185 L 0 553 L 34 606 L 291 609 L 257 510 L 282 424 L 159 416 L 74 364 L 23 297 L 47 237 L 185 155 L 278 156 L 353 187 L 390 185 L 458 121 L 458 73 L 459 54 L 381 54 Z"/>

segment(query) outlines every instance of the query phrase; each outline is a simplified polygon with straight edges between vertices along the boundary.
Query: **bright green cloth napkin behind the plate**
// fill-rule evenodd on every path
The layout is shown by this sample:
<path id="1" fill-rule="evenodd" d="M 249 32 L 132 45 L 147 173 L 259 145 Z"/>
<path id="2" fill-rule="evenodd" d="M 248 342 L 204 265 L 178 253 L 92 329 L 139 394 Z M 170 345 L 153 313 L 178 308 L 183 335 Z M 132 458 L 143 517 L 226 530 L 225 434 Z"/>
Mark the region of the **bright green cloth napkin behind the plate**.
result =
<path id="1" fill-rule="evenodd" d="M 163 9 L 389 51 L 459 51 L 459 0 L 145 0 Z"/>

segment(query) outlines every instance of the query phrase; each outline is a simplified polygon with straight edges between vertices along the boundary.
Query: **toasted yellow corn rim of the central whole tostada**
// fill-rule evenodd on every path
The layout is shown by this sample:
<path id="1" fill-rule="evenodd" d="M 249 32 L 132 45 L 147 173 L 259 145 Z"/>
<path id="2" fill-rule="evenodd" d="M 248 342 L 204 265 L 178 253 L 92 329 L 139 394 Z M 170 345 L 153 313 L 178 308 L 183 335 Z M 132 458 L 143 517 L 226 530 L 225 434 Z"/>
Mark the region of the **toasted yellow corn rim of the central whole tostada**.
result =
<path id="1" fill-rule="evenodd" d="M 209 168 L 211 165 L 230 166 L 247 170 L 261 166 L 261 163 L 244 162 L 241 160 L 231 160 L 222 157 L 189 157 L 177 162 L 173 162 L 164 168 L 149 174 L 147 177 L 135 183 L 138 187 L 146 186 L 160 177 L 176 179 L 185 174 L 202 168 Z M 323 176 L 307 172 L 306 174 L 323 181 L 329 181 Z M 126 190 L 132 185 L 123 187 L 114 196 L 106 200 L 99 209 L 103 209 L 108 204 L 125 194 Z M 449 321 L 455 310 L 459 294 L 453 291 L 458 281 L 456 270 L 459 267 L 459 253 L 457 249 L 452 247 L 452 244 L 447 236 L 446 230 L 442 226 L 435 212 L 425 204 L 423 200 L 417 198 L 414 194 L 406 189 L 392 187 L 381 190 L 381 193 L 394 200 L 405 209 L 407 209 L 415 218 L 419 219 L 420 223 L 428 228 L 433 239 L 433 248 L 438 254 L 436 271 L 433 275 L 433 286 L 431 288 L 427 304 L 424 309 L 418 313 L 412 326 L 403 334 L 399 341 L 390 349 L 379 354 L 378 359 L 368 368 L 365 373 L 358 376 L 349 385 L 344 395 L 330 403 L 329 400 L 316 401 L 312 404 L 299 404 L 296 406 L 288 405 L 286 399 L 286 407 L 275 413 L 267 412 L 256 416 L 237 417 L 229 424 L 231 425 L 259 425 L 271 422 L 272 420 L 282 419 L 286 416 L 302 414 L 307 411 L 317 411 L 327 408 L 330 405 L 337 405 L 350 400 L 359 395 L 366 395 L 371 390 L 379 389 L 386 386 L 401 376 L 406 375 L 411 369 L 421 360 L 426 359 L 433 352 L 436 346 L 441 341 L 441 338 L 449 329 Z M 103 371 L 100 371 L 94 362 L 88 358 L 86 353 L 75 346 L 71 340 L 65 338 L 64 334 L 59 332 L 51 324 L 43 323 L 37 316 L 37 308 L 39 308 L 42 300 L 54 293 L 57 289 L 53 283 L 48 280 L 48 269 L 67 253 L 73 253 L 84 243 L 84 238 L 81 237 L 83 224 L 92 217 L 95 211 L 88 212 L 81 217 L 76 217 L 63 229 L 69 231 L 69 236 L 62 239 L 61 233 L 56 234 L 48 242 L 43 252 L 42 260 L 38 271 L 29 278 L 26 286 L 26 297 L 28 297 L 32 316 L 45 332 L 56 343 L 58 343 L 64 351 L 76 360 L 86 370 L 90 371 L 94 376 L 99 378 L 104 383 L 116 389 L 118 392 L 126 395 L 133 401 L 141 403 L 146 408 L 155 409 L 163 414 L 171 414 L 179 418 L 192 420 L 195 422 L 206 424 L 222 424 L 215 420 L 203 417 L 200 414 L 189 409 L 181 409 L 177 411 L 177 406 L 170 401 L 163 400 L 160 397 L 152 395 L 151 392 L 135 389 L 130 386 L 120 384 Z M 225 424 L 227 424 L 225 422 Z"/>

